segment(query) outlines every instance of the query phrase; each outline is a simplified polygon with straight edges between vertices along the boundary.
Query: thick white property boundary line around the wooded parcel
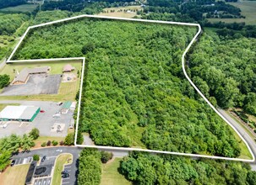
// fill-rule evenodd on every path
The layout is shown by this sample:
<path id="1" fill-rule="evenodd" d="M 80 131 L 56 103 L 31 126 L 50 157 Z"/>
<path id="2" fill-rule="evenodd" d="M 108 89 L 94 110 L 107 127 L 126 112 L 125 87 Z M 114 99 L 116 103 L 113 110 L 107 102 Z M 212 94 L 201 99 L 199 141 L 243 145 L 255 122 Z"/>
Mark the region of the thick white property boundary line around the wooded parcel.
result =
<path id="1" fill-rule="evenodd" d="M 175 24 L 175 25 L 185 25 L 185 26 L 194 26 L 197 27 L 199 30 L 197 34 L 194 35 L 193 40 L 190 41 L 188 47 L 182 54 L 182 71 L 184 72 L 185 77 L 188 79 L 188 82 L 194 87 L 194 89 L 199 92 L 200 96 L 204 98 L 204 101 L 210 105 L 210 108 L 212 108 L 216 114 L 218 114 L 221 119 L 226 121 L 227 124 L 231 126 L 232 129 L 235 130 L 237 135 L 242 139 L 242 141 L 247 145 L 248 150 L 250 154 L 253 156 L 252 160 L 248 159 L 239 159 L 239 158 L 230 158 L 230 157 L 223 157 L 223 156 L 207 156 L 207 155 L 197 155 L 197 154 L 188 154 L 188 153 L 180 153 L 180 152 L 173 152 L 173 151 L 154 151 L 154 150 L 146 150 L 146 149 L 139 149 L 139 148 L 125 148 L 125 147 L 112 147 L 112 146 L 102 146 L 102 145 L 77 145 L 77 134 L 78 134 L 78 128 L 79 128 L 79 115 L 80 115 L 80 106 L 81 106 L 81 97 L 82 97 L 82 89 L 83 89 L 83 81 L 84 81 L 84 63 L 85 58 L 84 57 L 74 57 L 74 58 L 58 58 L 58 59 L 37 59 L 37 60 L 21 60 L 21 61 L 11 61 L 12 57 L 14 56 L 14 53 L 19 48 L 19 45 L 21 42 L 25 39 L 26 34 L 29 33 L 30 29 L 39 28 L 42 26 L 50 25 L 50 24 L 57 24 L 62 23 L 68 20 L 73 20 L 76 18 L 105 18 L 105 19 L 115 19 L 115 20 L 124 20 L 124 21 L 133 21 L 133 22 L 143 22 L 143 23 L 155 23 L 155 24 Z M 226 119 L 224 118 L 217 109 L 210 103 L 210 101 L 204 97 L 204 94 L 200 92 L 199 88 L 196 87 L 192 80 L 188 77 L 188 74 L 185 69 L 185 56 L 190 49 L 191 45 L 193 45 L 193 42 L 198 38 L 199 34 L 201 33 L 201 26 L 200 24 L 189 24 L 189 23 L 180 23 L 180 22 L 167 22 L 167 21 L 155 21 L 155 20 L 147 20 L 147 19 L 137 19 L 137 18 L 116 18 L 116 17 L 106 17 L 106 16 L 97 16 L 97 15 L 79 15 L 73 18 L 63 18 L 57 21 L 48 22 L 45 24 L 38 24 L 34 26 L 30 26 L 26 31 L 25 34 L 21 37 L 19 40 L 19 43 L 15 46 L 13 52 L 8 58 L 8 61 L 6 63 L 12 63 L 12 62 L 31 62 L 31 61 L 70 61 L 70 60 L 82 60 L 83 61 L 83 67 L 82 67 L 82 74 L 81 74 L 81 82 L 80 82 L 80 91 L 79 91 L 79 105 L 78 105 L 78 115 L 77 115 L 77 122 L 76 122 L 76 131 L 75 131 L 75 137 L 74 137 L 74 145 L 79 147 L 89 147 L 89 148 L 97 148 L 97 149 L 107 149 L 107 150 L 116 150 L 116 151 L 146 151 L 151 153 L 161 153 L 161 154 L 172 154 L 177 156 L 192 156 L 192 157 L 202 157 L 202 158 L 210 158 L 210 159 L 222 159 L 222 160 L 228 160 L 228 161 L 245 161 L 245 162 L 253 162 L 255 161 L 255 156 L 253 155 L 253 152 L 248 145 L 248 142 L 240 135 L 240 133 L 237 131 L 237 129 Z"/>

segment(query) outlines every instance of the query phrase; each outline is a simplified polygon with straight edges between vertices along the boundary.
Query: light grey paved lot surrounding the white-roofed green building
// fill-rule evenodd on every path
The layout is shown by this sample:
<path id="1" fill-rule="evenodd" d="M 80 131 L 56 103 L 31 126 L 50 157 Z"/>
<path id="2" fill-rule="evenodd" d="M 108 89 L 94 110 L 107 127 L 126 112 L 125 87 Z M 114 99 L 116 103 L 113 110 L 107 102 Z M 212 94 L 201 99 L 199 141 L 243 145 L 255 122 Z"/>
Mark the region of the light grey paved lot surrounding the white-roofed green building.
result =
<path id="1" fill-rule="evenodd" d="M 68 126 L 73 118 L 73 112 L 68 111 L 68 114 L 61 114 L 60 118 L 53 118 L 52 115 L 56 114 L 62 106 L 58 106 L 56 102 L 45 101 L 13 101 L 6 100 L 0 103 L 20 103 L 21 105 L 33 105 L 40 107 L 45 113 L 39 113 L 33 122 L 8 122 L 6 128 L 0 127 L 0 138 L 11 134 L 24 135 L 30 132 L 31 129 L 37 128 L 40 130 L 41 136 L 55 136 L 65 137 L 68 133 Z M 64 124 L 62 132 L 52 131 L 53 124 Z M 4 123 L 3 123 L 4 124 Z"/>

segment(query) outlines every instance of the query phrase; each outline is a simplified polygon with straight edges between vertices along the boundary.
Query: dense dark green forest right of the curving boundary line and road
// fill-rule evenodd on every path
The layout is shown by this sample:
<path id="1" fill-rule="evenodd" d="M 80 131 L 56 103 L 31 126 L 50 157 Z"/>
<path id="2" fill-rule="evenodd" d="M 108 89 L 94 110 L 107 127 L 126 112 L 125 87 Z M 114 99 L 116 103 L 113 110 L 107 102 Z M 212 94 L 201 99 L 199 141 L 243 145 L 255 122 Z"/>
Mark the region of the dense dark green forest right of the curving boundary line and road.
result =
<path id="1" fill-rule="evenodd" d="M 243 108 L 256 115 L 256 40 L 227 40 L 206 32 L 189 55 L 195 82 L 221 108 Z"/>

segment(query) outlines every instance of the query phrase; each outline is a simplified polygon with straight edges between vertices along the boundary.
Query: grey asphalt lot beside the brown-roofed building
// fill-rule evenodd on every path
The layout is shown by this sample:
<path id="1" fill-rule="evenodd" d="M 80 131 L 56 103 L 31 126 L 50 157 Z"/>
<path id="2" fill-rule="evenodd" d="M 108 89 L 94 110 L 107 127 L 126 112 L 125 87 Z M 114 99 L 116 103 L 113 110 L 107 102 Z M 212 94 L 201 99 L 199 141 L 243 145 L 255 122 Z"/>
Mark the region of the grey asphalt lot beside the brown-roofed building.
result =
<path id="1" fill-rule="evenodd" d="M 26 84 L 5 87 L 0 96 L 57 94 L 61 82 L 61 75 L 32 75 Z"/>

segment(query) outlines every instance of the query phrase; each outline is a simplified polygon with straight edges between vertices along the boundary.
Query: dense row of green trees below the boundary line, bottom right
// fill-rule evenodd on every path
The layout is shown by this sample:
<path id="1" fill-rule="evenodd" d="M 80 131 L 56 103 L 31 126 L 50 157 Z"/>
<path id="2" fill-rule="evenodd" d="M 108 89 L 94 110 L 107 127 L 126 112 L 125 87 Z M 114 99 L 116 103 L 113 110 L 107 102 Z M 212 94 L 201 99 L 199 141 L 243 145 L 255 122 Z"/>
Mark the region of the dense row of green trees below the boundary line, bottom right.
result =
<path id="1" fill-rule="evenodd" d="M 247 163 L 150 155 L 133 152 L 121 161 L 122 172 L 134 184 L 255 184 Z"/>

